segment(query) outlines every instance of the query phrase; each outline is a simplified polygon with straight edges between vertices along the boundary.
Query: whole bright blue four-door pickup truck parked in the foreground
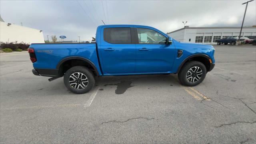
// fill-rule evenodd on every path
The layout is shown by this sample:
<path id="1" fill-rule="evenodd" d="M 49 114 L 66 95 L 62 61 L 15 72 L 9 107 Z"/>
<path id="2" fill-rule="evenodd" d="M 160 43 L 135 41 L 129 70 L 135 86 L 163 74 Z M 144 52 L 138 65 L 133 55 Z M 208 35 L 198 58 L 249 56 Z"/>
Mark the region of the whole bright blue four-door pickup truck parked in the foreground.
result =
<path id="1" fill-rule="evenodd" d="M 96 43 L 31 44 L 28 52 L 34 75 L 64 76 L 72 92 L 90 91 L 96 76 L 178 74 L 185 86 L 200 84 L 214 68 L 211 45 L 181 43 L 140 25 L 103 25 Z"/>

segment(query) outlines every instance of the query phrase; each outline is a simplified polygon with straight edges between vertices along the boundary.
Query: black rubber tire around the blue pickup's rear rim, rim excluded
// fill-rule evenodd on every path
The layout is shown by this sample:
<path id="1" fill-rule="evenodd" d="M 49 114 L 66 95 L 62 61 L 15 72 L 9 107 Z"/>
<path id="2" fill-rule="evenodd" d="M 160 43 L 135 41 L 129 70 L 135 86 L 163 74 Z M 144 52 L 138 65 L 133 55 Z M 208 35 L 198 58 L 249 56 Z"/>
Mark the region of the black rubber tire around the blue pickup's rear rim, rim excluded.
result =
<path id="1" fill-rule="evenodd" d="M 74 88 L 74 84 L 71 86 L 71 84 L 69 83 L 69 80 L 70 80 L 70 76 L 72 74 L 77 74 L 77 73 L 84 74 L 84 76 L 86 76 L 86 77 L 83 77 L 83 79 L 87 78 L 88 83 L 85 82 L 81 86 L 78 85 L 78 88 L 76 88 L 76 84 L 75 84 L 75 88 Z M 81 84 L 81 81 L 79 81 L 79 80 L 81 80 L 82 77 L 80 75 L 79 75 L 80 77 L 78 75 L 76 75 L 76 76 L 78 78 L 75 77 L 75 82 L 74 83 L 77 82 L 79 84 L 79 82 L 80 82 L 80 84 Z M 72 75 L 72 77 L 74 77 L 74 75 Z M 73 78 L 71 78 L 71 80 L 72 79 Z M 78 80 L 78 81 L 76 81 L 76 80 Z M 86 68 L 84 66 L 74 66 L 74 67 L 70 68 L 69 70 L 67 70 L 67 72 L 65 73 L 65 75 L 64 75 L 64 84 L 68 88 L 68 90 L 70 90 L 71 92 L 74 92 L 76 94 L 84 94 L 86 92 L 89 92 L 93 88 L 93 86 L 95 84 L 95 79 L 94 79 L 94 75 L 93 75 L 92 71 L 89 70 L 88 68 Z M 87 84 L 87 87 L 85 86 L 86 84 Z M 84 86 L 84 88 L 82 88 L 82 86 Z M 79 89 L 79 88 L 81 88 L 81 89 Z"/>

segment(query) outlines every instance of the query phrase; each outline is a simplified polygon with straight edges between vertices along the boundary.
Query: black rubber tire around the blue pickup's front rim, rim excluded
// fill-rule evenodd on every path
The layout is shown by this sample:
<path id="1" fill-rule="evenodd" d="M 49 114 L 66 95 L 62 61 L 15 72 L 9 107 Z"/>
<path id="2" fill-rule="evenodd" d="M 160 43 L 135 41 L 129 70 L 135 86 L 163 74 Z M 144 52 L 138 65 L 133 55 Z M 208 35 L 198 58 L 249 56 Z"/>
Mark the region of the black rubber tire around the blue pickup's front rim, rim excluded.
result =
<path id="1" fill-rule="evenodd" d="M 188 73 L 188 71 L 191 68 L 194 68 L 194 67 L 201 68 L 202 74 L 201 74 L 201 77 L 199 78 L 199 80 L 197 80 L 195 82 L 190 82 L 189 80 L 187 80 L 187 73 Z M 204 64 L 202 62 L 189 61 L 189 62 L 186 62 L 184 64 L 184 66 L 182 66 L 182 69 L 178 73 L 178 78 L 179 78 L 180 83 L 182 85 L 185 85 L 185 86 L 196 86 L 196 85 L 200 84 L 204 80 L 204 78 L 206 76 L 206 73 L 207 73 L 206 67 L 204 66 Z"/>

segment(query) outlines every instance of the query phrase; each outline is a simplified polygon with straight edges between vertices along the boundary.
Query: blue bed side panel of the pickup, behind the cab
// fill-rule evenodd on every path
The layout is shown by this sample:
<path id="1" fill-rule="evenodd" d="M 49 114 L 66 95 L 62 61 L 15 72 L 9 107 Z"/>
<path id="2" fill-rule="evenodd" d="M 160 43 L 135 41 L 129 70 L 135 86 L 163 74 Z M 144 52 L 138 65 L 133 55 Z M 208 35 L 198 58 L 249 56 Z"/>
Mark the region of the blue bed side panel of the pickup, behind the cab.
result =
<path id="1" fill-rule="evenodd" d="M 88 59 L 100 70 L 96 44 L 31 44 L 30 48 L 34 48 L 36 54 L 37 61 L 33 63 L 35 69 L 58 69 L 61 60 L 74 56 Z"/>

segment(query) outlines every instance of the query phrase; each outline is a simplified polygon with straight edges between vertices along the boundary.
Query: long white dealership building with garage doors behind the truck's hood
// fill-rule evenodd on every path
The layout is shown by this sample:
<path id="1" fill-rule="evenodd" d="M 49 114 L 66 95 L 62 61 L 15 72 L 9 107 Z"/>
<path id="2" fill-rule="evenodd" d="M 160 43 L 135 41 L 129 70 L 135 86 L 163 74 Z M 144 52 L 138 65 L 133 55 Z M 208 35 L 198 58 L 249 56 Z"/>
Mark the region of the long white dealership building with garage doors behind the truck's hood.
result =
<path id="1" fill-rule="evenodd" d="M 239 36 L 241 27 L 189 27 L 174 30 L 167 34 L 179 42 L 216 44 L 215 40 L 228 36 Z M 241 36 L 256 37 L 256 27 L 243 27 Z"/>

